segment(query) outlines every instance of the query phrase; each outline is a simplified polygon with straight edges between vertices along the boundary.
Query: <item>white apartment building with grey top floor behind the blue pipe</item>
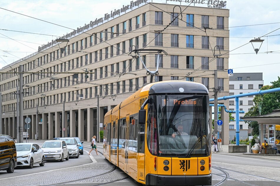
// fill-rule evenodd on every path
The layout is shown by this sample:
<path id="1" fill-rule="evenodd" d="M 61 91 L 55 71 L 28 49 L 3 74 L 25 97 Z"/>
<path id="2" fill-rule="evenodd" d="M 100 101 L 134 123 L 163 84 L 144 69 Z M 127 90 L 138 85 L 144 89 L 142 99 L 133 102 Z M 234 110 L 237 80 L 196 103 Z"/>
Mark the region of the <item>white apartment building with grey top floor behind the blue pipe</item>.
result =
<path id="1" fill-rule="evenodd" d="M 263 73 L 234 73 L 229 77 L 229 95 L 245 94 L 249 92 L 257 92 L 264 85 Z M 255 96 L 247 96 L 239 98 L 239 110 L 245 113 L 250 110 L 254 105 L 253 99 Z M 229 100 L 229 110 L 235 110 L 235 100 Z M 245 113 L 239 113 L 239 119 Z M 233 118 L 236 120 L 235 113 L 232 113 Z M 239 121 L 240 139 L 246 139 L 251 136 L 251 127 L 245 121 Z M 236 135 L 235 121 L 229 122 L 229 138 L 232 140 Z"/>

